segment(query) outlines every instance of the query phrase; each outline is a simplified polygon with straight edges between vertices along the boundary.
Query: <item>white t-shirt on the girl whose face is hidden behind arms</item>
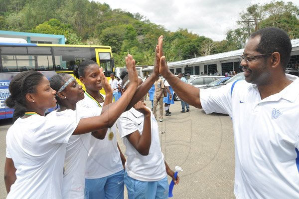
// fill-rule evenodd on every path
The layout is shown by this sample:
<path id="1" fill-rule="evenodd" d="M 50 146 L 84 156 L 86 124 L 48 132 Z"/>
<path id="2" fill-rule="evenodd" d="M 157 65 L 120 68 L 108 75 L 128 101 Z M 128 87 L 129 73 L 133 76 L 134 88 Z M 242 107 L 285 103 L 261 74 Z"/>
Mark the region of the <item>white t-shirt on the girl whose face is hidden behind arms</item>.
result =
<path id="1" fill-rule="evenodd" d="M 164 155 L 161 152 L 158 124 L 150 114 L 151 145 L 149 155 L 141 155 L 129 142 L 127 135 L 135 131 L 143 132 L 144 114 L 131 108 L 124 112 L 117 120 L 117 127 L 123 142 L 126 146 L 126 172 L 133 179 L 145 182 L 159 181 L 166 177 Z"/>

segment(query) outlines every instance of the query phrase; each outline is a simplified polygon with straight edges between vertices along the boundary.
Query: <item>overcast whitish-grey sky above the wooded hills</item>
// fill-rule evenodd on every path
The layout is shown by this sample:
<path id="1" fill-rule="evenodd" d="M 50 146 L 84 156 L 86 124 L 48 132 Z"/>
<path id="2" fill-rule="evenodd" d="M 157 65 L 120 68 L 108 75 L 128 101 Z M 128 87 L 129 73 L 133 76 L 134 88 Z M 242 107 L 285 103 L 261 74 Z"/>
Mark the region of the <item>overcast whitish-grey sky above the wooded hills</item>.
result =
<path id="1" fill-rule="evenodd" d="M 237 28 L 239 13 L 253 3 L 271 0 L 95 0 L 107 3 L 112 9 L 139 12 L 151 22 L 167 30 L 187 28 L 214 41 L 225 39 L 228 29 Z M 286 0 L 284 0 L 286 1 Z M 288 0 L 299 6 L 298 0 Z M 288 2 L 286 1 L 286 2 Z"/>

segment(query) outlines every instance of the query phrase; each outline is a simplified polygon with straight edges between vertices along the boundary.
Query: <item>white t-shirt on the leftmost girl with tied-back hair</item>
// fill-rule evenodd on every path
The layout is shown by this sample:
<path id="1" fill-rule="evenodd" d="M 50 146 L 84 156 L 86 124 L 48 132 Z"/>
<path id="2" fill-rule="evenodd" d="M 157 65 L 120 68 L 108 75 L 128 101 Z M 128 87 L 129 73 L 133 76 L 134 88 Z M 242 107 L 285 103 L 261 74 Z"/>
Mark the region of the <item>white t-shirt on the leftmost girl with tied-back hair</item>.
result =
<path id="1" fill-rule="evenodd" d="M 16 168 L 7 199 L 61 199 L 66 144 L 79 120 L 70 113 L 57 117 L 18 118 L 6 134 L 6 157 Z"/>

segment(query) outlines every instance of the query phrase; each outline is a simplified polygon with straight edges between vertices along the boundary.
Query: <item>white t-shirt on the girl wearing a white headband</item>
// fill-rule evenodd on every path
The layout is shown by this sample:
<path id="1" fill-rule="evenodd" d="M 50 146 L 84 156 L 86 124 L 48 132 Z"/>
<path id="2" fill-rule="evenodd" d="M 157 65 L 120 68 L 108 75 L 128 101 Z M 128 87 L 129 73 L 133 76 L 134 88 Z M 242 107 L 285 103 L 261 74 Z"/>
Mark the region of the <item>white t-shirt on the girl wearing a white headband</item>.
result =
<path id="1" fill-rule="evenodd" d="M 77 111 L 74 112 L 79 119 Z M 68 112 L 62 111 L 56 114 L 57 116 L 64 116 Z M 89 108 L 83 114 L 85 117 L 101 115 L 101 109 Z M 84 199 L 85 169 L 90 137 L 91 133 L 72 135 L 66 145 L 62 184 L 63 199 Z"/>

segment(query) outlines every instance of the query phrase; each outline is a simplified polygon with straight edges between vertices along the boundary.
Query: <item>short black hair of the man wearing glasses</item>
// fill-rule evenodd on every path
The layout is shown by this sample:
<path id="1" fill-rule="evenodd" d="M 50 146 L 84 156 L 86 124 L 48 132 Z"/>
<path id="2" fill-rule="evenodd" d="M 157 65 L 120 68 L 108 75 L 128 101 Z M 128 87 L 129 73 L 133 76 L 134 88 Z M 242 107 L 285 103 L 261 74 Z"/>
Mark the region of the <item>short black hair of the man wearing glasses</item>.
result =
<path id="1" fill-rule="evenodd" d="M 281 64 L 283 69 L 286 70 L 292 51 L 292 43 L 288 33 L 277 27 L 266 27 L 254 32 L 250 38 L 256 36 L 261 37 L 256 51 L 261 53 L 279 52 Z"/>

